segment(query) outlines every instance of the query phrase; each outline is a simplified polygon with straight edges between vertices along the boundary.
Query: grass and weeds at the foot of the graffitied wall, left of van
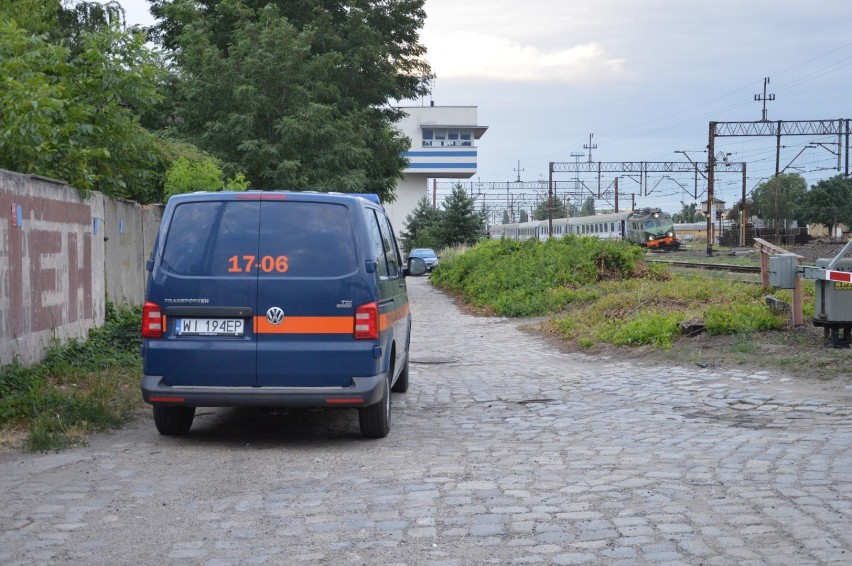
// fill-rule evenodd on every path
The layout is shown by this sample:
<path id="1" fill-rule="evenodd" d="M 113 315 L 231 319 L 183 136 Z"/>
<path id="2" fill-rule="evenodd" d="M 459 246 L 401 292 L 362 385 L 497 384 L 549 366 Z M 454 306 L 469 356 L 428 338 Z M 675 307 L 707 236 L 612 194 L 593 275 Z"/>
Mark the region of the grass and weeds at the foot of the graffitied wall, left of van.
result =
<path id="1" fill-rule="evenodd" d="M 141 403 L 140 309 L 107 305 L 106 321 L 86 341 L 50 349 L 32 367 L 12 364 L 0 374 L 4 443 L 21 433 L 24 446 L 47 451 L 117 428 Z"/>

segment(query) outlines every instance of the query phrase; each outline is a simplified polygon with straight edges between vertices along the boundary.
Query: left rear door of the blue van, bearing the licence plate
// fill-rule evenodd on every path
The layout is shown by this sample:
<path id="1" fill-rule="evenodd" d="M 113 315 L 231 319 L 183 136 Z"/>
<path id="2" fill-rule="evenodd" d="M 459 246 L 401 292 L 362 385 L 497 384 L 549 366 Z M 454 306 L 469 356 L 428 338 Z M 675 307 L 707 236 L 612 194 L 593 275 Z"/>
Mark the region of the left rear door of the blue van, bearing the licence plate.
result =
<path id="1" fill-rule="evenodd" d="M 146 341 L 145 374 L 166 385 L 252 386 L 260 201 L 193 195 L 175 202 L 148 283 L 166 326 L 161 339 Z"/>

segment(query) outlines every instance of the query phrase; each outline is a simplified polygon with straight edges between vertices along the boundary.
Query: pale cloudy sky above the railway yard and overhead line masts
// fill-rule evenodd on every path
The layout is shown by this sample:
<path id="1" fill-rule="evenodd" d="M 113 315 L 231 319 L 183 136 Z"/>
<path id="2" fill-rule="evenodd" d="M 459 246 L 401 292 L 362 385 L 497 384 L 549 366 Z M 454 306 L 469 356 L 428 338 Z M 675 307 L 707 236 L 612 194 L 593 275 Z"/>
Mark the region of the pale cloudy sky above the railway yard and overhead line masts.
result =
<path id="1" fill-rule="evenodd" d="M 129 23 L 151 22 L 145 0 L 120 3 Z M 477 106 L 488 126 L 481 182 L 546 180 L 551 161 L 588 160 L 590 134 L 594 161 L 706 162 L 708 123 L 759 120 L 765 77 L 770 120 L 852 118 L 849 0 L 427 0 L 426 13 L 432 100 Z M 837 174 L 837 141 L 784 137 L 781 167 Z M 774 173 L 774 138 L 717 138 L 716 150 L 747 163 L 748 189 Z M 637 206 L 679 210 L 688 177 L 649 179 Z M 717 183 L 717 198 L 739 198 L 740 175 Z M 639 190 L 620 186 L 628 200 Z"/>

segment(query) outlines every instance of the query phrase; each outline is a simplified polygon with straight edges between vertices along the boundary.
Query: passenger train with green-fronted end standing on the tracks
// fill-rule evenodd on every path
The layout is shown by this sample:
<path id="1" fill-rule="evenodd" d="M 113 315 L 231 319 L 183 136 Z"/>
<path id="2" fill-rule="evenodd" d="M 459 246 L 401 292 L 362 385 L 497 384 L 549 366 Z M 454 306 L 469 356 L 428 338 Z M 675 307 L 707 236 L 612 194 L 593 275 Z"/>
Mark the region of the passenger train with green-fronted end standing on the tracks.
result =
<path id="1" fill-rule="evenodd" d="M 547 220 L 533 220 L 495 224 L 489 233 L 492 238 L 546 240 L 547 227 Z M 651 250 L 676 250 L 680 247 L 671 215 L 659 208 L 576 218 L 554 218 L 553 236 L 560 238 L 566 234 L 593 236 L 604 240 L 627 240 Z"/>

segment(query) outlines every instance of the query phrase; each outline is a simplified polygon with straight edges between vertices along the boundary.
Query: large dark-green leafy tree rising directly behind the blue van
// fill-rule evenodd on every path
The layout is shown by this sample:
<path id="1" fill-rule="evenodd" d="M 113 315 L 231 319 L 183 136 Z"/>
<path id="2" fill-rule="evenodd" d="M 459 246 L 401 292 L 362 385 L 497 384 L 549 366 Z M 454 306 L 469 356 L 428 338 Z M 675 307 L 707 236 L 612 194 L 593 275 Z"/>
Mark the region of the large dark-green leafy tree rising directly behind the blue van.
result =
<path id="1" fill-rule="evenodd" d="M 392 201 L 409 140 L 387 103 L 427 92 L 423 1 L 152 1 L 179 131 L 256 188 Z"/>

